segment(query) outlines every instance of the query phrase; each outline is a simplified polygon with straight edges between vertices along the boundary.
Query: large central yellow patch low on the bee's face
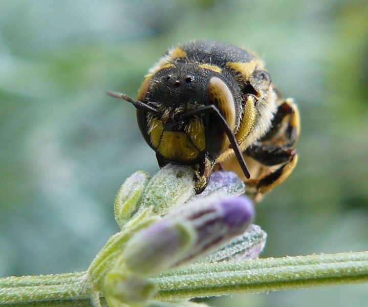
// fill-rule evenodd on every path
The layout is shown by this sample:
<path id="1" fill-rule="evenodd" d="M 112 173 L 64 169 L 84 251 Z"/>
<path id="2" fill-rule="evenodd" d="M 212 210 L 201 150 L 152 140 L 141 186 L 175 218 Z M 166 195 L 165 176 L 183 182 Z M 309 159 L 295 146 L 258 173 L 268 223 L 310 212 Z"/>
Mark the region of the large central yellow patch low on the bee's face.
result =
<path id="1" fill-rule="evenodd" d="M 184 132 L 164 131 L 157 151 L 166 159 L 190 161 L 196 159 L 199 151 L 187 139 Z"/>

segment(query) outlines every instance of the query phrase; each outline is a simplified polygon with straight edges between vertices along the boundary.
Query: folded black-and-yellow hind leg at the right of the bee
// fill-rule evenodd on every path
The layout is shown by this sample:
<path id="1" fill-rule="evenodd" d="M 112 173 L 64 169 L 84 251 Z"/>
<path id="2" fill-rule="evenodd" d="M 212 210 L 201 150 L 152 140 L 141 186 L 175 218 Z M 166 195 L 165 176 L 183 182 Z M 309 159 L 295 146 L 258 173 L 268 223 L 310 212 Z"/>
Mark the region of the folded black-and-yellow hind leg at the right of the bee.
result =
<path id="1" fill-rule="evenodd" d="M 289 98 L 279 105 L 268 133 L 244 151 L 245 156 L 263 165 L 256 179 L 246 183 L 247 194 L 251 198 L 261 200 L 265 193 L 289 177 L 298 160 L 293 146 L 299 133 L 299 111 Z M 277 165 L 279 167 L 275 169 Z"/>

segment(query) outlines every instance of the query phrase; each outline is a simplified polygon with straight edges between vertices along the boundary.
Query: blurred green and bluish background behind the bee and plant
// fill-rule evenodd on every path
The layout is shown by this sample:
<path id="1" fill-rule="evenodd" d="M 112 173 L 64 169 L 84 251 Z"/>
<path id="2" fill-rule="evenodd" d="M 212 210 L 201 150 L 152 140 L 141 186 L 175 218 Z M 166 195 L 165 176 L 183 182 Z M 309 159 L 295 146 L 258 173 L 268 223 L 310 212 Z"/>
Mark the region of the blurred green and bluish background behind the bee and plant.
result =
<path id="1" fill-rule="evenodd" d="M 223 40 L 264 58 L 300 107 L 299 163 L 257 206 L 263 256 L 368 250 L 368 3 L 0 1 L 0 277 L 86 270 L 118 230 L 115 194 L 158 170 L 135 109 L 172 46 Z M 210 299 L 366 306 L 368 285 Z"/>

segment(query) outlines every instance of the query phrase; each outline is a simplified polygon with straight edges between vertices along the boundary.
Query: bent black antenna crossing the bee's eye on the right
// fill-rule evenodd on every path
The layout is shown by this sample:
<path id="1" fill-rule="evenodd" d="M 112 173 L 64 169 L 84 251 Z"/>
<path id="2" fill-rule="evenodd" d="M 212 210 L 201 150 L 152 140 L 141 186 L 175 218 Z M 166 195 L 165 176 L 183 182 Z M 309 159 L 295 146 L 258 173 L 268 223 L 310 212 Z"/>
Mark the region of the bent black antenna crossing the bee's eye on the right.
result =
<path id="1" fill-rule="evenodd" d="M 212 113 L 214 115 L 217 116 L 217 118 L 220 121 L 220 124 L 222 126 L 222 128 L 224 129 L 226 136 L 228 137 L 231 147 L 234 150 L 235 153 L 235 157 L 237 159 L 237 161 L 239 162 L 240 167 L 242 168 L 242 171 L 244 173 L 245 178 L 249 179 L 250 178 L 250 172 L 248 170 L 247 164 L 245 163 L 242 151 L 239 148 L 239 145 L 237 144 L 236 138 L 234 136 L 234 134 L 232 133 L 231 128 L 229 127 L 229 124 L 227 123 L 226 119 L 222 116 L 222 114 L 220 113 L 219 109 L 213 105 L 206 105 L 203 107 L 200 107 L 198 109 L 194 109 L 194 110 L 190 110 L 187 111 L 186 113 L 183 114 L 184 118 L 188 118 L 188 117 L 192 117 L 192 116 L 196 116 L 196 115 L 201 115 L 204 113 Z"/>

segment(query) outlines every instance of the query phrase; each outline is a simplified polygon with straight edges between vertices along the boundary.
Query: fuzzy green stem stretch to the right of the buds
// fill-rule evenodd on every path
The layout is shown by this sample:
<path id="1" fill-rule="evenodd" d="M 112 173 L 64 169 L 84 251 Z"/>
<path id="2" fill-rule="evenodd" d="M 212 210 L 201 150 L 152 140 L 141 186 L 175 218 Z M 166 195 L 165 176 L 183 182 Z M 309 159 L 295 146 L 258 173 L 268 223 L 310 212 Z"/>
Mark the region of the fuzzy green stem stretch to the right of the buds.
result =
<path id="1" fill-rule="evenodd" d="M 153 280 L 161 300 L 364 283 L 368 252 L 196 264 Z"/>

